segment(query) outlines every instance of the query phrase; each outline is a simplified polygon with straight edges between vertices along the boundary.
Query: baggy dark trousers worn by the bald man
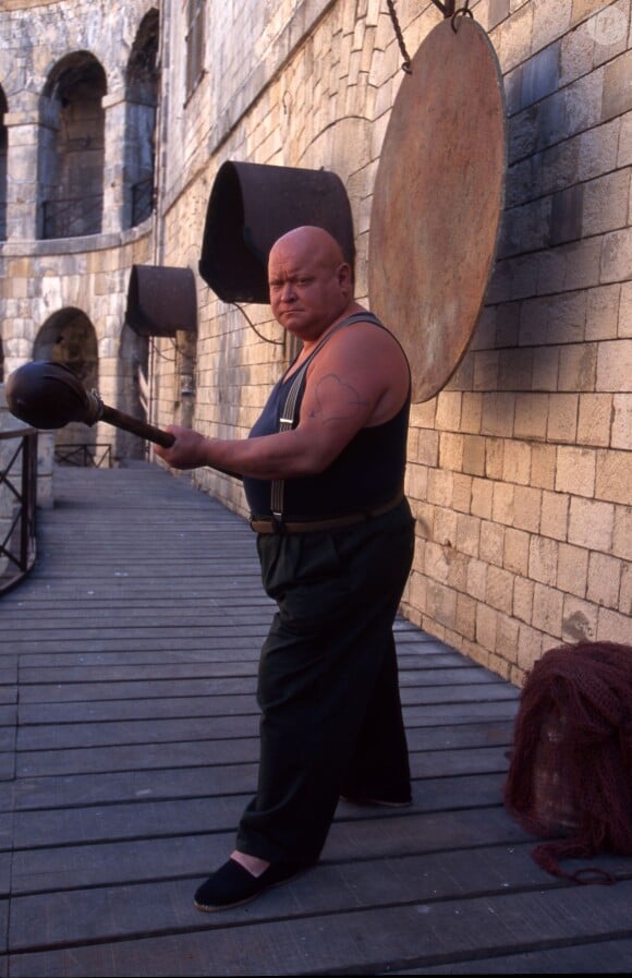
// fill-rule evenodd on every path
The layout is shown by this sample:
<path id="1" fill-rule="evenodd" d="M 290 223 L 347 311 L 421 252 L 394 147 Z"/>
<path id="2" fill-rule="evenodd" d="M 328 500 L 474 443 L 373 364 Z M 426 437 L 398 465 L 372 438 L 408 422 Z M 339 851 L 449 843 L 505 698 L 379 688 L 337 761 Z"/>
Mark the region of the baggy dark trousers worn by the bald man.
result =
<path id="1" fill-rule="evenodd" d="M 413 545 L 405 499 L 333 533 L 257 539 L 278 612 L 259 663 L 259 778 L 241 852 L 313 862 L 341 794 L 410 797 L 392 625 Z"/>

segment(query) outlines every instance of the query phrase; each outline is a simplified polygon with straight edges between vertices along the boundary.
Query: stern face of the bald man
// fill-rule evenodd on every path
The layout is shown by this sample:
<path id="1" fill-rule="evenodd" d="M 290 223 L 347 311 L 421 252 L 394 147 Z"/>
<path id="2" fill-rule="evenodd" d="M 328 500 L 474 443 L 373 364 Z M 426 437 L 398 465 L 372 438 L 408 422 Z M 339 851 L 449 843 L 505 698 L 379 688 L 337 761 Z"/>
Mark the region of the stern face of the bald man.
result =
<path id="1" fill-rule="evenodd" d="M 316 338 L 347 306 L 349 266 L 318 246 L 275 245 L 268 279 L 278 322 L 301 339 Z"/>

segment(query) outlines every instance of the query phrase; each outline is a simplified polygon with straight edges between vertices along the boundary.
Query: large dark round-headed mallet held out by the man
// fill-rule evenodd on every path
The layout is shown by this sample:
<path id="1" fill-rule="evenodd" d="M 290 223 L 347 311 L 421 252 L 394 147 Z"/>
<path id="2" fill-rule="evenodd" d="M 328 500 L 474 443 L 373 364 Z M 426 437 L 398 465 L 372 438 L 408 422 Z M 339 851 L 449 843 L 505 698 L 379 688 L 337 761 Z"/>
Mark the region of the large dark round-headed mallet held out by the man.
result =
<path id="1" fill-rule="evenodd" d="M 163 448 L 175 440 L 169 432 L 105 405 L 96 390 L 87 391 L 62 363 L 34 360 L 19 366 L 7 378 L 4 393 L 11 413 L 32 427 L 58 428 L 71 421 L 92 426 L 105 421 Z"/>

